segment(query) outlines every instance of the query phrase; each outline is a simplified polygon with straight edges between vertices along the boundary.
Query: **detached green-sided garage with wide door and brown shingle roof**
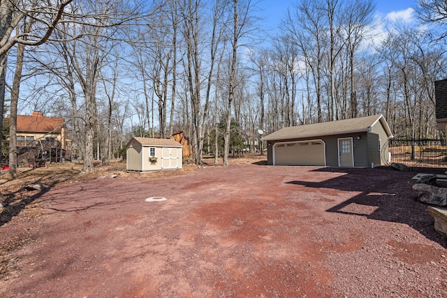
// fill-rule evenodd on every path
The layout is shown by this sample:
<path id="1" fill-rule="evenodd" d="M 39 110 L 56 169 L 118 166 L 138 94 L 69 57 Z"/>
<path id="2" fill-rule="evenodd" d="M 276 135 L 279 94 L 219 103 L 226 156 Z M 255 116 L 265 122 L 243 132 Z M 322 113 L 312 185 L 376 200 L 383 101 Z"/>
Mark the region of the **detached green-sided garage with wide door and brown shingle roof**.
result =
<path id="1" fill-rule="evenodd" d="M 263 137 L 270 165 L 362 167 L 390 161 L 383 115 L 284 127 Z"/>

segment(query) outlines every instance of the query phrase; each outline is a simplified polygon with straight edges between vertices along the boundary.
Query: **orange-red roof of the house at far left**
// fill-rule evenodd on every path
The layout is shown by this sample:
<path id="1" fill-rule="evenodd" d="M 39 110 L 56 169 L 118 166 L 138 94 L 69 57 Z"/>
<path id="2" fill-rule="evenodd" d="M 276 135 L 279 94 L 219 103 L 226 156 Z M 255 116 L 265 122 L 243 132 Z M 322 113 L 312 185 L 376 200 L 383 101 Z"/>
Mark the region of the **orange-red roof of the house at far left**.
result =
<path id="1" fill-rule="evenodd" d="M 17 132 L 61 133 L 63 125 L 64 118 L 17 115 Z"/>

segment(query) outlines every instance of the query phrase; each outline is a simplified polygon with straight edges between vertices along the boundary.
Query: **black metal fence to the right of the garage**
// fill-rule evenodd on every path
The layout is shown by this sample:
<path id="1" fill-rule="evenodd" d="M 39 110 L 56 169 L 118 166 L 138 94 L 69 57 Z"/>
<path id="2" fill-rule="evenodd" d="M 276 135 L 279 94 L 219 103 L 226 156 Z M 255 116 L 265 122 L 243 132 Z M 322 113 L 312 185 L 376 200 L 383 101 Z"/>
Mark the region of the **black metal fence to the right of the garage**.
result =
<path id="1" fill-rule="evenodd" d="M 388 141 L 390 163 L 405 164 L 410 169 L 447 169 L 446 139 L 395 138 Z"/>

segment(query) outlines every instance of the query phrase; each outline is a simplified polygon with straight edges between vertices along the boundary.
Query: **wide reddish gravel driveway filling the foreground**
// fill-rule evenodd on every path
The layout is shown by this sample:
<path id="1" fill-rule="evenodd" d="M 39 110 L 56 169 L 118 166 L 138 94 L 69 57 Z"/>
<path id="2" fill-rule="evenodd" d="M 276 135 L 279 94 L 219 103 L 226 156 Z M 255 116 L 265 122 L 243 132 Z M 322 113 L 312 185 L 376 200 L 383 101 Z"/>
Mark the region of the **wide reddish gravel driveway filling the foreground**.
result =
<path id="1" fill-rule="evenodd" d="M 0 296 L 447 297 L 413 175 L 247 164 L 54 187 L 0 227 Z"/>

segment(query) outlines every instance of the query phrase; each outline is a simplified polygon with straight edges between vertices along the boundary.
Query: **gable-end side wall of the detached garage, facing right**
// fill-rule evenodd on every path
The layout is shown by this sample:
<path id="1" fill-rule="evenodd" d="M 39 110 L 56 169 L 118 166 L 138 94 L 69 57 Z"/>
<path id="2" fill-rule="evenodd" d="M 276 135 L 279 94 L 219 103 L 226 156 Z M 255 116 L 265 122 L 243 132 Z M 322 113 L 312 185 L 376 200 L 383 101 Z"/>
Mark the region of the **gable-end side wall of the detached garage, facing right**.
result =
<path id="1" fill-rule="evenodd" d="M 379 139 L 381 143 L 380 151 Z M 377 122 L 376 125 L 371 127 L 371 132 L 368 133 L 368 154 L 369 164 L 371 162 L 374 162 L 374 166 L 383 166 L 386 164 L 383 159 L 388 159 L 388 136 L 381 122 Z"/>

